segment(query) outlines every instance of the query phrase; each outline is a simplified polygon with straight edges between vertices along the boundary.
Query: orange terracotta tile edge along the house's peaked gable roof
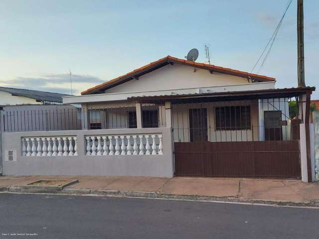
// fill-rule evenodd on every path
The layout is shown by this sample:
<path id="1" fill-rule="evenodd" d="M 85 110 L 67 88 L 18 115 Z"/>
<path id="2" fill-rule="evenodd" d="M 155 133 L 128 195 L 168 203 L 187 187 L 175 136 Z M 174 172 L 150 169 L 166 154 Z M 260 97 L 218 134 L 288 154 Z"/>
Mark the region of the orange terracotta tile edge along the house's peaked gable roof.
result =
<path id="1" fill-rule="evenodd" d="M 133 77 L 134 74 L 136 74 L 137 72 L 141 72 L 145 69 L 148 69 L 148 68 L 152 68 L 153 66 L 159 64 L 159 63 L 164 63 L 164 62 L 168 62 L 168 61 L 172 61 L 172 62 L 177 62 L 177 63 L 184 63 L 186 65 L 189 65 L 189 66 L 194 66 L 194 67 L 205 67 L 205 69 L 208 69 L 208 70 L 212 70 L 212 71 L 222 71 L 221 73 L 225 73 L 225 74 L 231 74 L 231 73 L 234 73 L 234 74 L 237 74 L 238 76 L 240 77 L 253 77 L 253 78 L 256 78 L 257 80 L 260 80 L 260 81 L 275 81 L 275 78 L 272 78 L 272 77 L 268 77 L 268 76 L 263 76 L 263 75 L 257 75 L 257 74 L 253 74 L 253 73 L 248 73 L 248 72 L 244 72 L 244 71 L 238 71 L 238 70 L 234 70 L 234 69 L 230 69 L 230 68 L 224 68 L 224 67 L 221 67 L 221 66 L 215 66 L 215 65 L 208 65 L 208 64 L 205 64 L 205 63 L 198 63 L 198 62 L 193 62 L 193 61 L 187 61 L 187 60 L 184 60 L 184 59 L 179 59 L 179 58 L 176 58 L 176 57 L 172 57 L 172 56 L 166 56 L 166 57 L 163 57 L 157 61 L 154 61 L 154 62 L 151 62 L 145 66 L 142 66 L 140 68 L 137 68 L 125 75 L 122 75 L 122 76 L 119 76 L 113 80 L 110 80 L 110 81 L 107 81 L 107 82 L 104 82 L 102 84 L 99 84 L 95 87 L 92 87 L 92 88 L 89 88 L 87 89 L 86 91 L 83 91 L 81 93 L 81 95 L 89 95 L 89 94 L 92 94 L 92 93 L 96 93 L 97 91 L 100 91 L 100 90 L 103 90 L 104 88 L 107 88 L 107 87 L 111 87 L 112 84 L 114 83 L 117 83 L 117 82 L 120 82 L 121 80 L 125 79 L 126 77 Z"/>

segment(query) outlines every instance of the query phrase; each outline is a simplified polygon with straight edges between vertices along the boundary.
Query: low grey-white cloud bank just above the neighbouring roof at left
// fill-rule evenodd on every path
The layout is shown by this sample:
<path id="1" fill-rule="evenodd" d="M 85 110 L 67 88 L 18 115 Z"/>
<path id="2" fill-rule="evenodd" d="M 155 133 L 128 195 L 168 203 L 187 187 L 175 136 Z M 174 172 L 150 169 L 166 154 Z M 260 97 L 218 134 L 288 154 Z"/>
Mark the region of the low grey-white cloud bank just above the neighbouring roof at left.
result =
<path id="1" fill-rule="evenodd" d="M 103 80 L 95 76 L 74 74 L 72 75 L 72 93 L 79 94 L 87 86 L 93 86 L 102 82 Z M 9 81 L 0 81 L 0 85 L 3 87 L 70 94 L 70 75 L 51 74 L 39 77 L 16 77 Z"/>

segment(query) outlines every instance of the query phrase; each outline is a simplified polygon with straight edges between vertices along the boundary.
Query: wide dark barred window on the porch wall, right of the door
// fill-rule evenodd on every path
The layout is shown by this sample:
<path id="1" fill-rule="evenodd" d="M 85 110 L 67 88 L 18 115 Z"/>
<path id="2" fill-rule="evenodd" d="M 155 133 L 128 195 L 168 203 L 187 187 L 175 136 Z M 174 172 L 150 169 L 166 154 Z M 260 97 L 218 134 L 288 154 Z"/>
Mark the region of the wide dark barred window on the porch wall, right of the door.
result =
<path id="1" fill-rule="evenodd" d="M 250 106 L 215 108 L 216 130 L 250 129 Z"/>

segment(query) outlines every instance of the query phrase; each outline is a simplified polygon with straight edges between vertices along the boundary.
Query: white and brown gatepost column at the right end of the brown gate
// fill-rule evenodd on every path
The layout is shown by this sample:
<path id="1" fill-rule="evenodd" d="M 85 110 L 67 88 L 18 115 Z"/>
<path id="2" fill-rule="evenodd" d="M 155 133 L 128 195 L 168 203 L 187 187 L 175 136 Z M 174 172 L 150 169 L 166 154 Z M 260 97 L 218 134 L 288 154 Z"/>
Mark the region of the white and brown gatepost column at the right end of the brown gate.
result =
<path id="1" fill-rule="evenodd" d="M 300 124 L 300 154 L 301 154 L 301 176 L 302 181 L 312 181 L 312 163 L 310 146 L 310 92 L 304 94 L 299 99 L 299 119 Z"/>

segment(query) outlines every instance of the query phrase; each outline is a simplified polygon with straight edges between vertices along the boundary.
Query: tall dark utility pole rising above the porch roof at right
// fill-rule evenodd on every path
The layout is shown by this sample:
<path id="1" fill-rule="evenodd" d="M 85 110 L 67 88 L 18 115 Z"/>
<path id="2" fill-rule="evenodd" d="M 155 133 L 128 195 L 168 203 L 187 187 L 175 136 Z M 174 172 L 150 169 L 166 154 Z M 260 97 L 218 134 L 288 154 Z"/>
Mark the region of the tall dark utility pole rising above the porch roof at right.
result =
<path id="1" fill-rule="evenodd" d="M 298 0 L 297 4 L 298 87 L 306 87 L 304 62 L 304 0 Z"/>

